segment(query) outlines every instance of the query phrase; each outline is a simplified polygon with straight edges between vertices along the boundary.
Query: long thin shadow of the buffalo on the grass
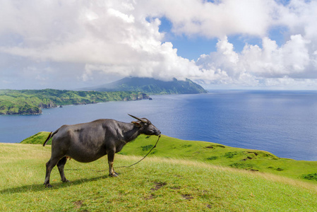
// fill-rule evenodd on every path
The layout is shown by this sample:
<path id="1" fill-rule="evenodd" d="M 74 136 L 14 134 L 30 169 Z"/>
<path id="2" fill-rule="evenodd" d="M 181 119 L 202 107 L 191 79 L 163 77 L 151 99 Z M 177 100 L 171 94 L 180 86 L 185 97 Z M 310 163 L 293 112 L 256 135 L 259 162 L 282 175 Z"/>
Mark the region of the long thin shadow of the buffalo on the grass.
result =
<path id="1" fill-rule="evenodd" d="M 98 179 L 105 179 L 109 178 L 109 175 L 102 175 L 100 177 L 92 177 L 92 178 L 83 178 L 83 179 L 76 179 L 70 182 L 56 182 L 52 183 L 52 188 L 45 188 L 44 184 L 30 184 L 25 185 L 21 187 L 13 187 L 8 189 L 2 189 L 0 190 L 0 194 L 16 194 L 16 193 L 23 193 L 23 192 L 42 192 L 44 190 L 55 190 L 55 189 L 61 189 L 65 187 L 71 187 L 76 184 L 83 184 L 85 182 L 92 182 L 97 181 Z"/>

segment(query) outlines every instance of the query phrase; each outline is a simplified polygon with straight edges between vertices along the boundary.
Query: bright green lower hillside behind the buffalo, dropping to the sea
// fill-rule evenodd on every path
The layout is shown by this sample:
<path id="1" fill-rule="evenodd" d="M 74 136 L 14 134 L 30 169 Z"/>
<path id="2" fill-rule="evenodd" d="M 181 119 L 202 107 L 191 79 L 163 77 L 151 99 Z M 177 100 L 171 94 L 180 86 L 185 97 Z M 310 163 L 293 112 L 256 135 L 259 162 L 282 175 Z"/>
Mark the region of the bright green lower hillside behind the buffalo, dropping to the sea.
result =
<path id="1" fill-rule="evenodd" d="M 40 132 L 21 143 L 42 144 L 48 134 L 48 132 Z M 135 141 L 126 144 L 119 154 L 145 155 L 155 144 L 156 139 L 156 136 L 140 135 Z M 234 148 L 204 141 L 184 141 L 162 136 L 150 155 L 199 161 L 252 172 L 265 172 L 317 184 L 317 161 L 278 158 L 266 151 Z"/>

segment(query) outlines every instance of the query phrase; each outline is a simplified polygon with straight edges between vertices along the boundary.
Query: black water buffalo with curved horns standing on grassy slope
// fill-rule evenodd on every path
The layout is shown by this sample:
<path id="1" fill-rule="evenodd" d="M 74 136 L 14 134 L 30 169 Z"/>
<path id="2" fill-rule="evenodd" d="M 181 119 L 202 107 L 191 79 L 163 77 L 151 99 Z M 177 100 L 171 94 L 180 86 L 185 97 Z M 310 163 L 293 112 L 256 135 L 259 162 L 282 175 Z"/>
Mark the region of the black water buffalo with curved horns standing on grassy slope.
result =
<path id="1" fill-rule="evenodd" d="M 78 162 L 88 163 L 103 155 L 108 155 L 109 175 L 117 177 L 114 172 L 114 154 L 129 141 L 133 141 L 140 134 L 155 135 L 161 134 L 148 119 L 134 117 L 136 122 L 124 123 L 113 119 L 98 119 L 93 122 L 63 125 L 54 133 L 50 133 L 43 146 L 52 139 L 52 155 L 46 163 L 45 187 L 52 187 L 49 184 L 49 176 L 53 167 L 57 164 L 62 182 L 68 182 L 64 175 L 64 165 L 67 157 Z"/>

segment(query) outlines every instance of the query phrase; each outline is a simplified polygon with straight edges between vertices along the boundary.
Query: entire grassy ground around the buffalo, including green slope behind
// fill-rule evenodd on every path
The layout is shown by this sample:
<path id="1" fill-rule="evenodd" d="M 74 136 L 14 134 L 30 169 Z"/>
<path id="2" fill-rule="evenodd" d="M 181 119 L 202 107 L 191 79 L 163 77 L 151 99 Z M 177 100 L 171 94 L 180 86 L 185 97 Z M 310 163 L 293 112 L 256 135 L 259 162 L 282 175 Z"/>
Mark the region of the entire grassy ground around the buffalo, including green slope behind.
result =
<path id="1" fill-rule="evenodd" d="M 140 160 L 156 139 L 140 136 L 129 143 L 114 166 Z M 117 168 L 119 177 L 107 176 L 107 157 L 68 160 L 71 182 L 62 183 L 55 167 L 53 188 L 45 189 L 49 157 L 50 146 L 0 143 L 0 211 L 317 211 L 316 180 L 300 177 L 316 173 L 316 162 L 263 151 L 162 136 L 148 158 Z M 252 168 L 234 168 L 237 163 Z"/>

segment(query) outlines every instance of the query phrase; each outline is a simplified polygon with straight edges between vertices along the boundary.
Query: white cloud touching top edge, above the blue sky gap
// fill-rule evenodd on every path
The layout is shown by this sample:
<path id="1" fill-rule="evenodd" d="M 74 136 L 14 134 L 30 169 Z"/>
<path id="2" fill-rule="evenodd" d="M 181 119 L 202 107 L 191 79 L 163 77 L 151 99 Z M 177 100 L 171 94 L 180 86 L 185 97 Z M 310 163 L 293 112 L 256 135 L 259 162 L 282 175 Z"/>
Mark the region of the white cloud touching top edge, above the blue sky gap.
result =
<path id="1" fill-rule="evenodd" d="M 231 34 L 265 35 L 274 21 L 275 1 L 168 1 L 153 0 L 152 16 L 166 16 L 175 33 L 223 37 Z"/>

